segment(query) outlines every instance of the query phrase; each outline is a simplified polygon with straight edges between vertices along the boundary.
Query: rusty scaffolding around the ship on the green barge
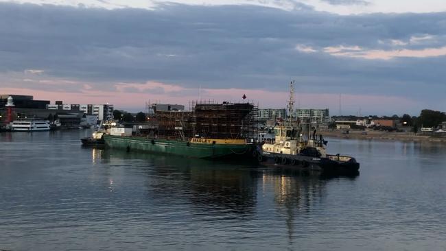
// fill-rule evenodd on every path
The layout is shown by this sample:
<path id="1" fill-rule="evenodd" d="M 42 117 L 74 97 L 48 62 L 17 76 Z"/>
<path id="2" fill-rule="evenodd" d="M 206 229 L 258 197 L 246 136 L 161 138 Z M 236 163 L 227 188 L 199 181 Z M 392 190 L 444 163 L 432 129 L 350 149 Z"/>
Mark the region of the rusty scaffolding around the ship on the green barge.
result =
<path id="1" fill-rule="evenodd" d="M 154 110 L 150 120 L 158 125 L 152 136 L 189 141 L 196 139 L 255 139 L 258 108 L 254 104 L 190 101 L 189 111 Z"/>

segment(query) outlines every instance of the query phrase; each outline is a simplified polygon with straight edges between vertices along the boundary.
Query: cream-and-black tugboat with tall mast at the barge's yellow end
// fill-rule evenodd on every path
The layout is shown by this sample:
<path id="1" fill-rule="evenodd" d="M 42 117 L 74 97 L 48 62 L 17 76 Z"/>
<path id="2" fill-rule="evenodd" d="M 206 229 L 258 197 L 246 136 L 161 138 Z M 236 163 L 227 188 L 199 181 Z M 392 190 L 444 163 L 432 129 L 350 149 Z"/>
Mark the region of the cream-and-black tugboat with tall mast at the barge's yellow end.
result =
<path id="1" fill-rule="evenodd" d="M 293 110 L 294 82 L 290 84 L 290 101 L 288 112 Z M 305 126 L 307 125 L 307 126 Z M 306 129 L 306 130 L 305 130 Z M 304 132 L 306 138 L 304 137 Z M 273 141 L 263 143 L 257 159 L 266 165 L 293 167 L 307 169 L 309 171 L 321 171 L 324 174 L 349 175 L 358 174 L 360 163 L 351 156 L 340 154 L 327 154 L 325 141 L 322 135 L 316 136 L 316 130 L 310 135 L 310 123 L 299 123 L 288 117 L 274 127 L 275 138 Z"/>

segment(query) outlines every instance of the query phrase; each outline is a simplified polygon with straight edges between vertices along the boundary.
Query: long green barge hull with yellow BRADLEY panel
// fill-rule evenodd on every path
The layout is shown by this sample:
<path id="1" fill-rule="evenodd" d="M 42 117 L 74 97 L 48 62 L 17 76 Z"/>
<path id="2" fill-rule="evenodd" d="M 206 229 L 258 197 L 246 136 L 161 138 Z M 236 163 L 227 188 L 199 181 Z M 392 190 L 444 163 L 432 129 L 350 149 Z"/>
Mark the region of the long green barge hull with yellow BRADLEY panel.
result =
<path id="1" fill-rule="evenodd" d="M 250 154 L 255 148 L 252 143 L 241 140 L 189 139 L 177 141 L 148 139 L 143 136 L 114 136 L 104 134 L 107 147 L 126 151 L 141 151 L 154 154 L 175 154 L 191 158 L 227 158 Z"/>

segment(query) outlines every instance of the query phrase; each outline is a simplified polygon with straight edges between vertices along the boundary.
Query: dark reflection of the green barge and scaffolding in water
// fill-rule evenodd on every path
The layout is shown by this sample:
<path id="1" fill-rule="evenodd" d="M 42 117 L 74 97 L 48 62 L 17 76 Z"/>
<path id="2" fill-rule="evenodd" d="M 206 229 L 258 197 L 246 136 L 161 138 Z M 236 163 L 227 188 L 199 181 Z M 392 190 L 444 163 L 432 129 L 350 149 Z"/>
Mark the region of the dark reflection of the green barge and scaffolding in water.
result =
<path id="1" fill-rule="evenodd" d="M 255 208 L 259 174 L 253 166 L 139 152 L 99 151 L 111 166 L 121 165 L 123 160 L 132 163 L 128 171 L 145 176 L 151 200 L 160 203 L 187 200 L 194 210 L 207 213 L 250 215 Z M 134 165 L 135 160 L 141 163 Z"/>

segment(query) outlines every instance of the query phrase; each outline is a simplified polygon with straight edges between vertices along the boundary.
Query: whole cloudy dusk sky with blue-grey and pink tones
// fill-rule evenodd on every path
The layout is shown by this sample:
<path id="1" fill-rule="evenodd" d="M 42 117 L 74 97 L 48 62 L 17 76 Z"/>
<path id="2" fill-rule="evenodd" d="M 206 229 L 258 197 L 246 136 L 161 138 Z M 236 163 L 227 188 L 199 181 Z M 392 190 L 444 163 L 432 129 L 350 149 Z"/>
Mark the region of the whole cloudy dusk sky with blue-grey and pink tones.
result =
<path id="1" fill-rule="evenodd" d="M 296 107 L 419 115 L 445 66 L 443 0 L 0 0 L 0 93 L 51 104 L 281 108 L 296 80 Z"/>

